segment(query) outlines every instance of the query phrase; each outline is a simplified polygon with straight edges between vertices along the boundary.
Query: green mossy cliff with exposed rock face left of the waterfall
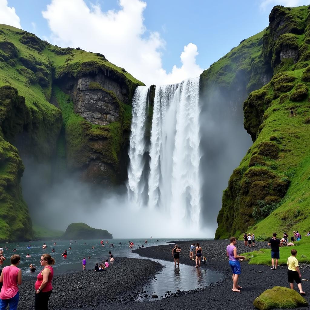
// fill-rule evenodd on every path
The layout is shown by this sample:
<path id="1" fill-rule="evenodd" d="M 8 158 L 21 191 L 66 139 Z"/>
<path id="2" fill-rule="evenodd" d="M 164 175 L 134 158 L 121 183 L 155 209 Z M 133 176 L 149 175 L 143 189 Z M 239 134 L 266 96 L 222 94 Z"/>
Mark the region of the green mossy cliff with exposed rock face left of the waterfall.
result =
<path id="1" fill-rule="evenodd" d="M 87 182 L 123 182 L 121 153 L 138 85 L 100 53 L 53 46 L 0 24 L 0 241 L 35 237 L 21 158 L 78 172 Z M 93 97 L 99 111 L 85 104 Z"/>

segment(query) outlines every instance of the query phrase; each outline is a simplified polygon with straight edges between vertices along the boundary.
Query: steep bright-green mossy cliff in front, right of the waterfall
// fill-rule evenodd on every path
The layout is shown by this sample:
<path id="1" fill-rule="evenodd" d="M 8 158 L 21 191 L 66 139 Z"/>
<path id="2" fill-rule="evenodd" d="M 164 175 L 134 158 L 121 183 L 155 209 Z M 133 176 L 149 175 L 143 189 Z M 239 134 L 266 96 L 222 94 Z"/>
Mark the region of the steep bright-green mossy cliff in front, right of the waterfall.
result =
<path id="1" fill-rule="evenodd" d="M 262 40 L 255 61 L 273 74 L 243 104 L 254 143 L 223 193 L 215 238 L 309 229 L 310 7 L 274 7 Z"/>

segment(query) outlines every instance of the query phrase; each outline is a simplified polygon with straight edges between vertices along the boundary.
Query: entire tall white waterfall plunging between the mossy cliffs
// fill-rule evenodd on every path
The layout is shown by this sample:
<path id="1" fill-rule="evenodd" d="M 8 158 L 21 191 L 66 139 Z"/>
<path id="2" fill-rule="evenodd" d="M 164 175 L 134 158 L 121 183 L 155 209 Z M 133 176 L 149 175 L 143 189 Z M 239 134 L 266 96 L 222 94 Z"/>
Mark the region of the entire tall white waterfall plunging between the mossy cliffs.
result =
<path id="1" fill-rule="evenodd" d="M 139 205 L 148 187 L 146 207 L 170 213 L 175 220 L 199 224 L 200 133 L 199 78 L 156 86 L 149 148 L 149 174 L 141 181 L 148 89 L 139 86 L 133 100 L 128 194 Z M 143 183 L 143 184 L 142 184 Z M 134 199 L 132 199 L 134 197 Z M 140 204 L 141 205 L 141 204 Z"/>

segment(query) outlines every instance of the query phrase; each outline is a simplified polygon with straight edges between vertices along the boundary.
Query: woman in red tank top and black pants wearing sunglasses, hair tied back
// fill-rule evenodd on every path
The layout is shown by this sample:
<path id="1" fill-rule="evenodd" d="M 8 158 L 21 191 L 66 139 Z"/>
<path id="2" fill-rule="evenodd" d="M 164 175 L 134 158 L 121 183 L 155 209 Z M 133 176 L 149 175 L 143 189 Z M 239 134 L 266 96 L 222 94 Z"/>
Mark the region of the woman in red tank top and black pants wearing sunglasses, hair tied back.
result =
<path id="1" fill-rule="evenodd" d="M 34 297 L 34 306 L 36 310 L 48 310 L 48 299 L 51 296 L 53 286 L 52 279 L 54 269 L 52 265 L 55 264 L 55 259 L 49 254 L 43 254 L 40 259 L 43 270 L 37 276 L 35 283 L 36 294 Z"/>

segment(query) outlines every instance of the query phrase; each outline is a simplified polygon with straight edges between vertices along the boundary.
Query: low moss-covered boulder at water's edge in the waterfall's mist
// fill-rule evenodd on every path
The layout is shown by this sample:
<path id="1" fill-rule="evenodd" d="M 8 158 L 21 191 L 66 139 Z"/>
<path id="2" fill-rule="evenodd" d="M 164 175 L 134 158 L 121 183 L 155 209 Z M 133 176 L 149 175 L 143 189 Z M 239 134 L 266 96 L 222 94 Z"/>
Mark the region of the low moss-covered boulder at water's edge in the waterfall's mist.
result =
<path id="1" fill-rule="evenodd" d="M 68 226 L 62 239 L 112 239 L 113 235 L 105 229 L 92 228 L 84 223 L 72 223 Z"/>

